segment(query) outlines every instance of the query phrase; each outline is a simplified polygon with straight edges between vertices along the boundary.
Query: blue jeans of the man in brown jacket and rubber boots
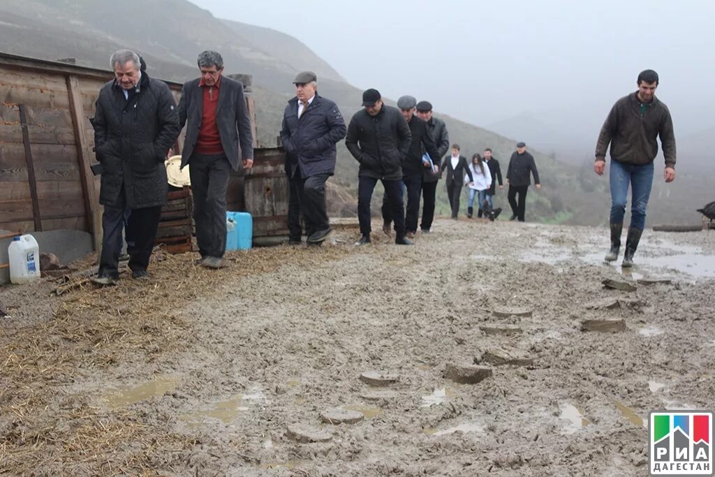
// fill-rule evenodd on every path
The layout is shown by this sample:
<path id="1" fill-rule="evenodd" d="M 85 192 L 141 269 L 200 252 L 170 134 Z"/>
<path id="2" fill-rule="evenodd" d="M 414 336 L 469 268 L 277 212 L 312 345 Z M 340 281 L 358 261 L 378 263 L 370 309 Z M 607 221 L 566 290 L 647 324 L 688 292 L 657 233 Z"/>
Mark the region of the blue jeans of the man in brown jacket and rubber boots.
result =
<path id="1" fill-rule="evenodd" d="M 628 185 L 631 186 L 631 227 L 646 228 L 646 207 L 653 187 L 653 162 L 650 164 L 623 164 L 611 159 L 611 223 L 623 223 L 628 202 Z"/>

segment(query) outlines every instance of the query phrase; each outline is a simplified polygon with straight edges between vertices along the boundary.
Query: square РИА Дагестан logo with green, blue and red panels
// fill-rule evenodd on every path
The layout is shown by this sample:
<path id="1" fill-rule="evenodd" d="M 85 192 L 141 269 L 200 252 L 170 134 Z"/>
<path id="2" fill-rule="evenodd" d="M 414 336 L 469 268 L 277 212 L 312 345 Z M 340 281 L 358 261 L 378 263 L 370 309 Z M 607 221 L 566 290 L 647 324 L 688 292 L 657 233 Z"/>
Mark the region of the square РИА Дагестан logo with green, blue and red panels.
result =
<path id="1" fill-rule="evenodd" d="M 651 476 L 713 475 L 711 411 L 654 411 L 649 429 Z"/>

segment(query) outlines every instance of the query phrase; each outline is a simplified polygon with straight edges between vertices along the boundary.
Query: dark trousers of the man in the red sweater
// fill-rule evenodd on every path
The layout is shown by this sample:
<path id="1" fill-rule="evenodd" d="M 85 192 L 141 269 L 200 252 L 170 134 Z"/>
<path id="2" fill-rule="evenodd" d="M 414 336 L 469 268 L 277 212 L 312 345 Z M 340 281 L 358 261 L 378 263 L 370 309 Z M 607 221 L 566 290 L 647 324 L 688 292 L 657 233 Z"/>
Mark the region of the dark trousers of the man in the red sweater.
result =
<path id="1" fill-rule="evenodd" d="M 226 190 L 230 174 L 226 154 L 194 153 L 189 159 L 196 242 L 202 257 L 223 257 L 226 252 Z"/>

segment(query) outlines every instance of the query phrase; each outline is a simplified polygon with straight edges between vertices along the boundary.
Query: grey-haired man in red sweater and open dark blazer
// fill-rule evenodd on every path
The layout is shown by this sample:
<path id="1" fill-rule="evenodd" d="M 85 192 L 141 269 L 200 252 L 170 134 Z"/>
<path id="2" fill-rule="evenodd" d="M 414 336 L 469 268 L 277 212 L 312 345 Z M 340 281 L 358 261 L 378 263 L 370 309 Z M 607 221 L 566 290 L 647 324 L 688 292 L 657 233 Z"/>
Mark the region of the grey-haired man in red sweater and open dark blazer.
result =
<path id="1" fill-rule="evenodd" d="M 197 63 L 201 77 L 184 84 L 179 100 L 179 127 L 187 124 L 181 167 L 190 167 L 201 254 L 197 263 L 221 268 L 225 266 L 228 180 L 231 169 L 253 166 L 253 134 L 243 84 L 222 75 L 221 55 L 202 51 Z"/>

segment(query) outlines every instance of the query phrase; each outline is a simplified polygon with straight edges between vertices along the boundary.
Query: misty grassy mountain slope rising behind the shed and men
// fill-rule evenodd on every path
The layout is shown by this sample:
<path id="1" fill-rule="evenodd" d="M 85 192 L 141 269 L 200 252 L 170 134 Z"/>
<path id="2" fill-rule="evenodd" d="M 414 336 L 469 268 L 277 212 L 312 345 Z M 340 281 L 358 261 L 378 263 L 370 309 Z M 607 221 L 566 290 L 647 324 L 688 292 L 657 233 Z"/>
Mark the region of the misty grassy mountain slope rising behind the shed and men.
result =
<path id="1" fill-rule="evenodd" d="M 127 0 L 118 6 L 107 0 L 4 0 L 0 2 L 2 49 L 44 59 L 74 56 L 79 64 L 107 69 L 109 54 L 128 47 L 144 55 L 149 74 L 177 82 L 197 77 L 195 61 L 199 51 L 217 49 L 224 56 L 227 74 L 253 75 L 258 140 L 266 146 L 275 144 L 283 109 L 295 92 L 292 79 L 297 71 L 306 68 L 305 64 L 322 72 L 318 82 L 320 94 L 337 102 L 346 122 L 360 109 L 362 91 L 339 81 L 340 75 L 330 65 L 291 36 L 238 21 L 216 19 L 185 0 Z M 379 72 L 375 73 L 375 85 L 379 89 Z M 390 99 L 385 101 L 395 104 Z M 439 109 L 438 104 L 436 107 Z M 506 173 L 515 139 L 436 115 L 445 119 L 450 141 L 461 144 L 465 156 L 471 157 L 474 152 L 481 153 L 485 147 L 491 147 Z M 564 164 L 530 150 L 536 157 L 544 185 L 541 191 L 529 195 L 530 220 L 606 223 L 605 213 L 593 211 L 594 206 L 605 210 L 607 180 L 598 180 L 588 168 Z M 333 205 L 334 213 L 355 213 L 357 172 L 358 163 L 341 142 L 336 175 L 330 184 L 340 200 L 345 202 L 346 197 L 352 200 Z M 375 202 L 380 200 L 380 194 L 381 187 L 378 187 Z M 674 196 L 680 197 L 679 194 Z M 443 185 L 438 188 L 438 198 L 438 211 L 446 212 Z M 498 203 L 507 207 L 506 190 L 499 193 Z M 689 203 L 679 203 L 672 198 L 668 203 L 677 205 L 680 210 L 691 208 Z"/>

